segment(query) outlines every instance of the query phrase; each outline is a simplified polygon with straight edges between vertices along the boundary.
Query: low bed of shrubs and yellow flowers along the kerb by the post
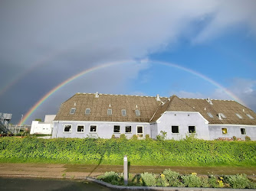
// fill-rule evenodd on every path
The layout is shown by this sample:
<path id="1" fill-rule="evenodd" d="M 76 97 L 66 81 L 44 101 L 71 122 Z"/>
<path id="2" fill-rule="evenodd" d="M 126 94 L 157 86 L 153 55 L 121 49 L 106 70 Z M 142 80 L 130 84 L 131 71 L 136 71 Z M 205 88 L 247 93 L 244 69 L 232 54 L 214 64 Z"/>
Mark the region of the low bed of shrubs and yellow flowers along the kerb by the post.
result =
<path id="1" fill-rule="evenodd" d="M 97 179 L 113 185 L 124 185 L 123 173 L 110 171 L 97 176 Z M 208 176 L 198 176 L 196 173 L 182 175 L 172 170 L 164 170 L 160 174 L 129 174 L 128 186 L 256 189 L 256 183 L 248 179 L 246 174 L 228 176 L 214 176 L 209 174 Z"/>

